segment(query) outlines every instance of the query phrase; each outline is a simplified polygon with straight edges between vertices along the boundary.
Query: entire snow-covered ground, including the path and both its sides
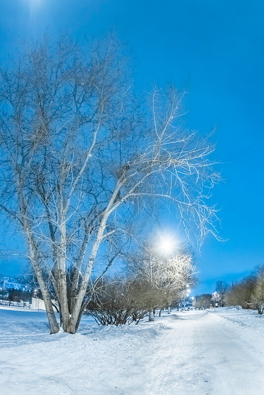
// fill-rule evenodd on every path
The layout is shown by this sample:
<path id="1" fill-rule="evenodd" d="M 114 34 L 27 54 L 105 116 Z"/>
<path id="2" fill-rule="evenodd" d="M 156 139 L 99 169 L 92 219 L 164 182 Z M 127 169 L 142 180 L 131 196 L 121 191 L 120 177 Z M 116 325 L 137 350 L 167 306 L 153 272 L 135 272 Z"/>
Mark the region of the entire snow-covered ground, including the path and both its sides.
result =
<path id="1" fill-rule="evenodd" d="M 147 320 L 147 319 L 146 319 Z M 0 309 L 3 395 L 263 395 L 264 318 L 218 309 L 49 335 L 44 312 Z"/>

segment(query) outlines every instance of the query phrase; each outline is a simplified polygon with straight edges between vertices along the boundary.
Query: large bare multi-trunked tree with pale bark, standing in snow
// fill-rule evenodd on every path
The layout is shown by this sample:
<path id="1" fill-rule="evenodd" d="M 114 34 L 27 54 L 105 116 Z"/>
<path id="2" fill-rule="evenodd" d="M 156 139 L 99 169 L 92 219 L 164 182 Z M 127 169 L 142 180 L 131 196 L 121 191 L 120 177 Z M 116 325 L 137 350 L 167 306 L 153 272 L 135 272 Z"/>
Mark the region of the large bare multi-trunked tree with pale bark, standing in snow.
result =
<path id="1" fill-rule="evenodd" d="M 176 89 L 132 93 L 114 38 L 88 51 L 35 45 L 0 79 L 0 208 L 22 231 L 51 333 L 75 333 L 93 271 L 129 243 L 131 223 L 173 204 L 190 240 L 217 237 L 214 146 L 181 125 Z M 107 259 L 105 258 L 107 257 Z"/>

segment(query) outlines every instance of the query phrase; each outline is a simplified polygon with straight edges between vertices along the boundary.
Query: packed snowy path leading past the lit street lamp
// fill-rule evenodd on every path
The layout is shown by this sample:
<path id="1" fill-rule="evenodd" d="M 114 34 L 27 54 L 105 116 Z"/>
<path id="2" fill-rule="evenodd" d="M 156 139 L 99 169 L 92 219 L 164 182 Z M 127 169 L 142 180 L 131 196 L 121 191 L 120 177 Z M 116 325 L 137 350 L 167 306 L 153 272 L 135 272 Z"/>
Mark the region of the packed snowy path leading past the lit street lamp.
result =
<path id="1" fill-rule="evenodd" d="M 136 362 L 147 372 L 146 394 L 264 394 L 264 356 L 205 311 L 170 323 L 153 354 Z"/>

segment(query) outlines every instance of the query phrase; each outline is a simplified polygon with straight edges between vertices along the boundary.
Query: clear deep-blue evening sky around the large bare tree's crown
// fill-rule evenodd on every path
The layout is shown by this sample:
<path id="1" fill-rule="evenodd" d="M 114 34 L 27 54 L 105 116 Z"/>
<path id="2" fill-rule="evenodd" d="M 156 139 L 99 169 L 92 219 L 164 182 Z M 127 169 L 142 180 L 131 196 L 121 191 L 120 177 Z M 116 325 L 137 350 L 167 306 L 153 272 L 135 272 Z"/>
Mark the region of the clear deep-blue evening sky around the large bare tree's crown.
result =
<path id="1" fill-rule="evenodd" d="M 114 29 L 131 48 L 139 88 L 173 82 L 189 92 L 190 128 L 207 133 L 217 125 L 216 158 L 226 181 L 214 196 L 228 240 L 205 242 L 196 292 L 264 263 L 264 2 L 1 0 L 1 64 L 16 55 L 20 38 L 66 28 L 80 40 Z"/>

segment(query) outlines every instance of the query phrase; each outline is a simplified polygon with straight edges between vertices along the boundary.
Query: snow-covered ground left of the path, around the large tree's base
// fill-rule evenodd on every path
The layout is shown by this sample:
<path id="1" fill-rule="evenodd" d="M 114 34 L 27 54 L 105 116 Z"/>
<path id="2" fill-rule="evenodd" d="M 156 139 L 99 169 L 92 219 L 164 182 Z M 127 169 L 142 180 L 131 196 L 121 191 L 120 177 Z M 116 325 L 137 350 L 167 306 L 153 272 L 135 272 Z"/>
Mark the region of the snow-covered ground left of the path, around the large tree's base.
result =
<path id="1" fill-rule="evenodd" d="M 123 392 L 130 363 L 174 320 L 161 317 L 153 324 L 146 318 L 138 325 L 99 327 L 84 316 L 77 334 L 61 330 L 50 335 L 45 312 L 0 309 L 0 393 L 130 394 L 129 389 Z"/>

